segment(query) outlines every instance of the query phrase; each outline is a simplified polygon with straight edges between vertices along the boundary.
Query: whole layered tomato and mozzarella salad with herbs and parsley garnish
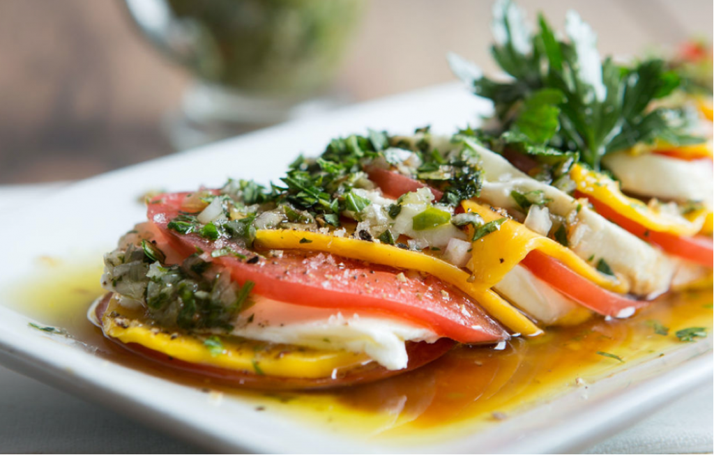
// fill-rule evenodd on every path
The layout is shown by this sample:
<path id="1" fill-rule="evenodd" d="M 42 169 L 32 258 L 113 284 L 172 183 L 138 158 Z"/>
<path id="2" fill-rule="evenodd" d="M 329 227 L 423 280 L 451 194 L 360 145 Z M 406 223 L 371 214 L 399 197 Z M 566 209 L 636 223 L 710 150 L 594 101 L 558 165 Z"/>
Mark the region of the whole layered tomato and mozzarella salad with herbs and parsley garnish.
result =
<path id="1" fill-rule="evenodd" d="M 481 128 L 368 131 L 269 186 L 151 198 L 94 322 L 233 384 L 334 387 L 714 282 L 711 93 L 675 62 L 603 60 L 574 12 L 561 39 L 493 11 L 506 76 L 449 56 L 493 101 Z"/>

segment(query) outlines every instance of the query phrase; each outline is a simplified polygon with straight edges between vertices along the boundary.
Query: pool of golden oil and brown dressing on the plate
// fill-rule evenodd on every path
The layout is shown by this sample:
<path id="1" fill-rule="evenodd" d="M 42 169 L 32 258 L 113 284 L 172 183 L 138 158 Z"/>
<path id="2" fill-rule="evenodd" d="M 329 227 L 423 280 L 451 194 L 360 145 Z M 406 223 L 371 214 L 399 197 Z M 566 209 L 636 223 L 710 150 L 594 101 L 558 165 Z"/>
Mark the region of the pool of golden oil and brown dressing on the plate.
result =
<path id="1" fill-rule="evenodd" d="M 418 444 L 498 424 L 538 404 L 682 347 L 688 327 L 714 329 L 714 290 L 660 298 L 625 320 L 595 317 L 574 327 L 551 327 L 542 337 L 514 339 L 505 349 L 458 347 L 436 362 L 374 384 L 323 392 L 253 392 L 176 374 L 106 341 L 86 319 L 101 295 L 101 267 L 41 267 L 19 283 L 14 310 L 66 329 L 97 355 L 167 380 L 311 421 L 338 434 Z M 34 283 L 43 283 L 36 286 Z M 695 339 L 696 342 L 696 339 Z"/>

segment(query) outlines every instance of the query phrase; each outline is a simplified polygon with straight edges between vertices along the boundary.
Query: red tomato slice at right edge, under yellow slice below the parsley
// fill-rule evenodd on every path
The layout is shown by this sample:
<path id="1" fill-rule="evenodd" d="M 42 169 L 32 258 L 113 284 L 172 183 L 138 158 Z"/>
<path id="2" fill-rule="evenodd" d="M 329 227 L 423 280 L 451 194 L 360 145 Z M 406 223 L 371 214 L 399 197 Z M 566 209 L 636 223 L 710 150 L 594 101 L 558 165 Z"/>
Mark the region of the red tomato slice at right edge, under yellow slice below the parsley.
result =
<path id="1" fill-rule="evenodd" d="M 585 198 L 587 196 L 582 193 L 576 193 L 576 198 Z M 608 205 L 601 203 L 595 198 L 588 198 L 593 204 L 595 210 L 603 215 L 603 217 L 620 225 L 628 232 L 637 235 L 646 242 L 651 242 L 658 245 L 671 255 L 683 257 L 686 260 L 696 262 L 697 264 L 705 265 L 706 267 L 714 267 L 714 239 L 705 237 L 704 235 L 695 235 L 693 237 L 680 237 L 678 235 L 669 234 L 668 232 L 655 232 L 648 230 L 643 225 L 635 223 L 633 220 L 615 212 Z"/>

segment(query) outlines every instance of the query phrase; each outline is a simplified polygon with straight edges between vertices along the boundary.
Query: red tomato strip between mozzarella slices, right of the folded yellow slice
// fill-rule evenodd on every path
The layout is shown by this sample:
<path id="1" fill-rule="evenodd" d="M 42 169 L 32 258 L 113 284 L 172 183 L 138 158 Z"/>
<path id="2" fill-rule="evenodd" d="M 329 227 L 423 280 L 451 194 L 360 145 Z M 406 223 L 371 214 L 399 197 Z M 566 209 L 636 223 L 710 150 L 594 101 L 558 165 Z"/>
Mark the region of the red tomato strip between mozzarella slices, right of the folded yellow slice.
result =
<path id="1" fill-rule="evenodd" d="M 600 315 L 625 316 L 628 310 L 649 304 L 645 300 L 634 300 L 605 290 L 573 272 L 563 262 L 538 250 L 528 253 L 521 261 L 521 265 L 531 270 L 533 275 L 547 282 L 553 289 Z"/>

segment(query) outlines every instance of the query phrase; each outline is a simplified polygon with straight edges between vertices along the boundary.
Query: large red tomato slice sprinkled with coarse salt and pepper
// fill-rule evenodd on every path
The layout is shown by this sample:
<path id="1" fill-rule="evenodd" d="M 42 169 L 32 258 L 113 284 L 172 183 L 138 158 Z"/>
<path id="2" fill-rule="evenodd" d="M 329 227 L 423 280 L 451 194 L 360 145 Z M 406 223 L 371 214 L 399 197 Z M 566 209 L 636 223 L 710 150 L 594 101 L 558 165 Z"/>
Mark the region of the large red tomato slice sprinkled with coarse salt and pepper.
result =
<path id="1" fill-rule="evenodd" d="M 196 247 L 211 252 L 227 241 L 211 242 L 196 234 L 182 235 L 167 224 L 178 215 L 186 193 L 162 195 L 149 204 L 149 220 L 184 257 Z M 214 261 L 231 270 L 239 284 L 255 283 L 264 297 L 310 307 L 368 309 L 408 319 L 431 328 L 441 337 L 463 343 L 494 342 L 508 333 L 460 290 L 431 275 L 366 264 L 321 252 L 285 251 L 263 257 L 231 245 L 250 262 L 233 256 Z M 256 259 L 257 258 L 257 259 Z"/>

